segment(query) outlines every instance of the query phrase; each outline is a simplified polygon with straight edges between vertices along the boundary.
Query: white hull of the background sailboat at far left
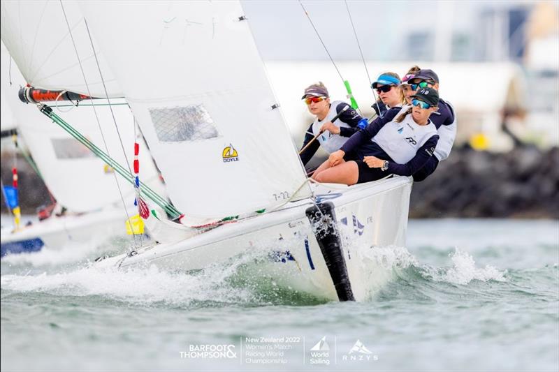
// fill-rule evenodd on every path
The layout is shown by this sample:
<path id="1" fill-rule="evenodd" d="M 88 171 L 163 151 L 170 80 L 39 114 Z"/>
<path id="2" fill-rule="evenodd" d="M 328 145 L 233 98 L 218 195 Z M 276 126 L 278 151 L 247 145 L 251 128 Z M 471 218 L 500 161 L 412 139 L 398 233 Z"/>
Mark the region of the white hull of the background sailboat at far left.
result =
<path id="1" fill-rule="evenodd" d="M 49 249 L 66 244 L 87 243 L 95 237 L 125 235 L 126 214 L 122 209 L 106 209 L 81 215 L 51 216 L 20 230 L 2 229 L 2 245 L 40 240 Z"/>

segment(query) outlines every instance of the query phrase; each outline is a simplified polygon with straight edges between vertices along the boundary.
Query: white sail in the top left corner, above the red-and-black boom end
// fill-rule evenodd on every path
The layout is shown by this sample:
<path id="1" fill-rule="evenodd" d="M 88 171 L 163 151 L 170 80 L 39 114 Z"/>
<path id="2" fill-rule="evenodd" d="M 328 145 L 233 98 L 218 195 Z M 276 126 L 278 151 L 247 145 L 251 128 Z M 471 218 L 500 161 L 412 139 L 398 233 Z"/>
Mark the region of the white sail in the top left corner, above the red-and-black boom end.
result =
<path id="1" fill-rule="evenodd" d="M 64 17 L 64 12 L 66 17 Z M 92 45 L 76 1 L 1 1 L 2 40 L 19 66 L 25 81 L 34 87 L 68 90 L 94 97 L 106 97 Z M 68 33 L 68 24 L 72 37 Z M 78 50 L 89 90 L 85 86 Z M 115 78 L 97 54 L 110 97 L 122 96 Z"/>

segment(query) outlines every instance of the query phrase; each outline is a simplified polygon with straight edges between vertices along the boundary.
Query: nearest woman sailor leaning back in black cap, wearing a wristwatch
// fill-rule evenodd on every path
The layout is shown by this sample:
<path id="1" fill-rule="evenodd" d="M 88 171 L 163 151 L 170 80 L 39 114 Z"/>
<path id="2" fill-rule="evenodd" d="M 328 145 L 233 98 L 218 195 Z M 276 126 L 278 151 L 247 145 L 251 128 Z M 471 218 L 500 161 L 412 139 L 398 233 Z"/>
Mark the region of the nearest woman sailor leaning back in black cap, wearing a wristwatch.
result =
<path id="1" fill-rule="evenodd" d="M 433 156 L 439 136 L 429 116 L 437 110 L 439 94 L 421 89 L 412 96 L 412 107 L 393 108 L 372 121 L 335 151 L 314 172 L 319 182 L 361 184 L 388 174 L 411 176 Z M 345 154 L 355 151 L 353 161 Z"/>

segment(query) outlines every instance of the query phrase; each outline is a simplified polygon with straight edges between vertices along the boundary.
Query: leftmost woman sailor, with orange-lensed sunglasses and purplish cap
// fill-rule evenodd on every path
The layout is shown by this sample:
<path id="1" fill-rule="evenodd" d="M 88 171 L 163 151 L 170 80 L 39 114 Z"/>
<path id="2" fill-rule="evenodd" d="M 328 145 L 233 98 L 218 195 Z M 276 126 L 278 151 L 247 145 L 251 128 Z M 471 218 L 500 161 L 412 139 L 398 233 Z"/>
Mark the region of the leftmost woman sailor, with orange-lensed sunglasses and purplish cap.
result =
<path id="1" fill-rule="evenodd" d="M 300 158 L 303 165 L 306 165 L 319 147 L 326 150 L 328 154 L 339 150 L 342 144 L 358 131 L 357 124 L 363 118 L 345 102 L 333 101 L 331 103 L 328 89 L 322 82 L 307 87 L 301 99 L 305 100 L 309 112 L 316 115 L 305 133 L 305 140 L 301 147 L 305 150 L 301 152 Z M 340 114 L 340 117 L 333 123 L 332 119 L 337 114 Z M 314 137 L 317 137 L 316 141 L 313 141 Z M 309 144 L 309 142 L 311 143 Z"/>

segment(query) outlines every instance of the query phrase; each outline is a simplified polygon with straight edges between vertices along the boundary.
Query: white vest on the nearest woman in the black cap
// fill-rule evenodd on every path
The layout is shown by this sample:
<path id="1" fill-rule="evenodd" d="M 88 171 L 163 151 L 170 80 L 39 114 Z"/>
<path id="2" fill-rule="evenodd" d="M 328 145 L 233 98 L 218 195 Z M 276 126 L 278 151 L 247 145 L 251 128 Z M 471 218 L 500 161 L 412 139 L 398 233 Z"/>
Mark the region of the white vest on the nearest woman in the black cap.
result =
<path id="1" fill-rule="evenodd" d="M 402 107 L 392 121 L 384 124 L 379 133 L 371 138 L 376 142 L 393 161 L 405 164 L 412 160 L 417 150 L 427 142 L 430 137 L 437 134 L 437 127 L 429 120 L 427 125 L 416 124 L 412 113 L 406 115 L 402 122 L 397 123 L 396 118 L 409 109 L 409 105 Z"/>

